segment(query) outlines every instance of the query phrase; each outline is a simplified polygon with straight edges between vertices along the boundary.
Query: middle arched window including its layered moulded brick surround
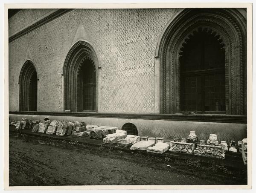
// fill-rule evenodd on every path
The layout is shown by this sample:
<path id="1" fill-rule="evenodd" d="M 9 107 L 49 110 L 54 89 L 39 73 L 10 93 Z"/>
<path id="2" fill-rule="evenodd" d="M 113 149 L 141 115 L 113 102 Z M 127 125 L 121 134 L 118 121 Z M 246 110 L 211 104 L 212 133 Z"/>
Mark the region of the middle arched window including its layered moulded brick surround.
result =
<path id="1" fill-rule="evenodd" d="M 63 66 L 64 110 L 97 111 L 97 66 L 89 43 L 79 40 L 72 46 Z"/>

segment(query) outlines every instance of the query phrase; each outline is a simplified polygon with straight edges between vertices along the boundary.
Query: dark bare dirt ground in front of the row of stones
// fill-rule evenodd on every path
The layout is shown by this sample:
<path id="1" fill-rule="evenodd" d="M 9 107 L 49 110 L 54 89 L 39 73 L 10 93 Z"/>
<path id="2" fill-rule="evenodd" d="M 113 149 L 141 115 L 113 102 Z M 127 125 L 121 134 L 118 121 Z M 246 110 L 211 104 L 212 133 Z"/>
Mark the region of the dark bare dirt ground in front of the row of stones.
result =
<path id="1" fill-rule="evenodd" d="M 9 185 L 247 184 L 246 171 L 24 134 L 9 136 Z"/>

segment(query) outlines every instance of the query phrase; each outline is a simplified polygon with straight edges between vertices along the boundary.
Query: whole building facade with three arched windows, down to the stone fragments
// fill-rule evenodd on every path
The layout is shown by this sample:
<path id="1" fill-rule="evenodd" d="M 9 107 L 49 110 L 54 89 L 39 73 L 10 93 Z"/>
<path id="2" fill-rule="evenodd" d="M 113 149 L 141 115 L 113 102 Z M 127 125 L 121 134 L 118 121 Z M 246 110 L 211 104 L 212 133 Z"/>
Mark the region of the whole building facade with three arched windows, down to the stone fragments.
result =
<path id="1" fill-rule="evenodd" d="M 246 9 L 22 9 L 9 18 L 10 118 L 241 140 L 246 35 Z"/>

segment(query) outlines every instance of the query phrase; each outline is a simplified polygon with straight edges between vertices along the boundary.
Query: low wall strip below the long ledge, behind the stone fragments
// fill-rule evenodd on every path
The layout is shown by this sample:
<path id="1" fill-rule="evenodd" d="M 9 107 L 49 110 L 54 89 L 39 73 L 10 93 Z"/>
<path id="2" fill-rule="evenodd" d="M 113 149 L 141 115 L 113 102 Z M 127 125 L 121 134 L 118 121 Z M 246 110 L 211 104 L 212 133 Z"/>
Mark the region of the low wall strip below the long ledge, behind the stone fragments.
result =
<path id="1" fill-rule="evenodd" d="M 247 138 L 247 124 L 237 123 L 214 123 L 198 121 L 163 121 L 163 120 L 144 120 L 144 119 L 126 119 L 126 118 L 99 118 L 99 117 L 74 117 L 74 116 L 46 116 L 46 115 L 9 115 L 10 120 L 50 120 L 59 121 L 83 121 L 86 124 L 98 126 L 118 127 L 119 130 L 125 123 L 132 123 L 137 127 L 138 135 L 147 135 L 149 137 L 181 138 L 188 137 L 190 131 L 195 131 L 198 140 L 207 141 L 209 134 L 217 134 L 218 141 L 231 140 L 241 141 Z"/>

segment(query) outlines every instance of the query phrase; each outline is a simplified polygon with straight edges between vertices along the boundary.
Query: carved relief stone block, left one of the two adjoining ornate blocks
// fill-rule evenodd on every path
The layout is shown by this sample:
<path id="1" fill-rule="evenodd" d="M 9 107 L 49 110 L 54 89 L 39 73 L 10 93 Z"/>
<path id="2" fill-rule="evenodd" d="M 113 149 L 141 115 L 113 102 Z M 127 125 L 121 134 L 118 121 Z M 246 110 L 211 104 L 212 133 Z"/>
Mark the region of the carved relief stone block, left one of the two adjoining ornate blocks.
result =
<path id="1" fill-rule="evenodd" d="M 170 149 L 169 149 L 170 152 L 187 153 L 187 154 L 192 154 L 194 150 L 195 150 L 195 144 L 179 142 L 179 141 L 171 141 Z"/>

